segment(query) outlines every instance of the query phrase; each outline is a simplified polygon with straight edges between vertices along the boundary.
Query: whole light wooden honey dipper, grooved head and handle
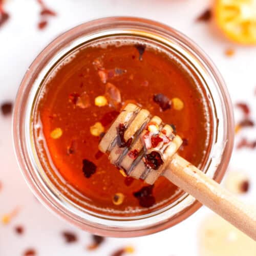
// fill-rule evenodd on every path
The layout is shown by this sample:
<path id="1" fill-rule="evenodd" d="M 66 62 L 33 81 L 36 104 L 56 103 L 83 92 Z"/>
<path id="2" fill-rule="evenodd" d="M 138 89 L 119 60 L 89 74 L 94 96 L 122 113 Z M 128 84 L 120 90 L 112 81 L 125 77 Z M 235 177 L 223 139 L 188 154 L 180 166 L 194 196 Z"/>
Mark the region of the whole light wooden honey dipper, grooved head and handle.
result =
<path id="1" fill-rule="evenodd" d="M 182 139 L 172 126 L 127 104 L 103 136 L 99 150 L 127 176 L 154 184 L 160 175 L 256 241 L 256 214 L 216 181 L 177 154 Z"/>

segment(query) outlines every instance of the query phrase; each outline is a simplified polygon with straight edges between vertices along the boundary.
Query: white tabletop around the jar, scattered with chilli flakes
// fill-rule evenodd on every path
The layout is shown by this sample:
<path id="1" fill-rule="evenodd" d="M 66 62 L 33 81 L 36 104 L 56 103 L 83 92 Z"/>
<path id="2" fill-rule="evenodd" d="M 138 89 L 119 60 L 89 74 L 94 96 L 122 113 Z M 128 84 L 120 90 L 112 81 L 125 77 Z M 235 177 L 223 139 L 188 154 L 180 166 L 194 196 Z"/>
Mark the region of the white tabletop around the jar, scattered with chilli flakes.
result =
<path id="1" fill-rule="evenodd" d="M 35 56 L 57 35 L 88 20 L 113 15 L 141 16 L 172 26 L 196 41 L 221 71 L 233 103 L 249 102 L 256 109 L 256 48 L 239 47 L 216 34 L 207 23 L 195 23 L 195 18 L 208 6 L 208 0 L 45 0 L 58 13 L 49 26 L 37 29 L 40 7 L 36 0 L 9 0 L 5 7 L 10 19 L 0 28 L 0 104 L 14 101 L 19 83 Z M 233 57 L 226 57 L 227 47 L 236 49 Z M 252 119 L 255 119 L 252 111 Z M 239 119 L 239 112 L 236 112 Z M 244 129 L 237 139 L 246 136 L 256 139 L 255 129 Z M 32 247 L 40 256 L 110 255 L 119 247 L 133 245 L 133 255 L 196 256 L 198 255 L 198 226 L 207 214 L 202 207 L 182 223 L 147 237 L 106 239 L 97 250 L 87 251 L 90 234 L 53 216 L 37 202 L 19 172 L 14 156 L 11 117 L 0 115 L 0 217 L 20 207 L 18 215 L 8 225 L 0 223 L 0 255 L 22 255 Z M 244 200 L 255 203 L 255 151 L 234 150 L 229 172 L 242 170 L 251 179 L 251 189 Z M 17 236 L 15 225 L 23 225 L 25 232 Z M 65 244 L 60 232 L 74 231 L 79 241 Z M 131 254 L 132 255 L 132 254 Z M 228 255 L 227 255 L 228 256 Z M 243 255 L 246 256 L 246 255 Z"/>

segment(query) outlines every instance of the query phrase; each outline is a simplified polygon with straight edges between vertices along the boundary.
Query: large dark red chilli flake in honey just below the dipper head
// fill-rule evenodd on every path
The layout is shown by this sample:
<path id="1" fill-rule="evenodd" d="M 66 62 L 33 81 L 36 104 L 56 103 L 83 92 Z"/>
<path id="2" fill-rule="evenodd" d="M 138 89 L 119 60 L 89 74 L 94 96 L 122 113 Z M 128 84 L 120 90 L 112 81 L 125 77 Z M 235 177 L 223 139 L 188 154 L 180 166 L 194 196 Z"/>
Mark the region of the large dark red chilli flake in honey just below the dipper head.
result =
<path id="1" fill-rule="evenodd" d="M 134 192 L 133 195 L 139 200 L 142 207 L 151 207 L 156 203 L 155 197 L 152 195 L 154 185 L 144 186 L 139 191 Z"/>

